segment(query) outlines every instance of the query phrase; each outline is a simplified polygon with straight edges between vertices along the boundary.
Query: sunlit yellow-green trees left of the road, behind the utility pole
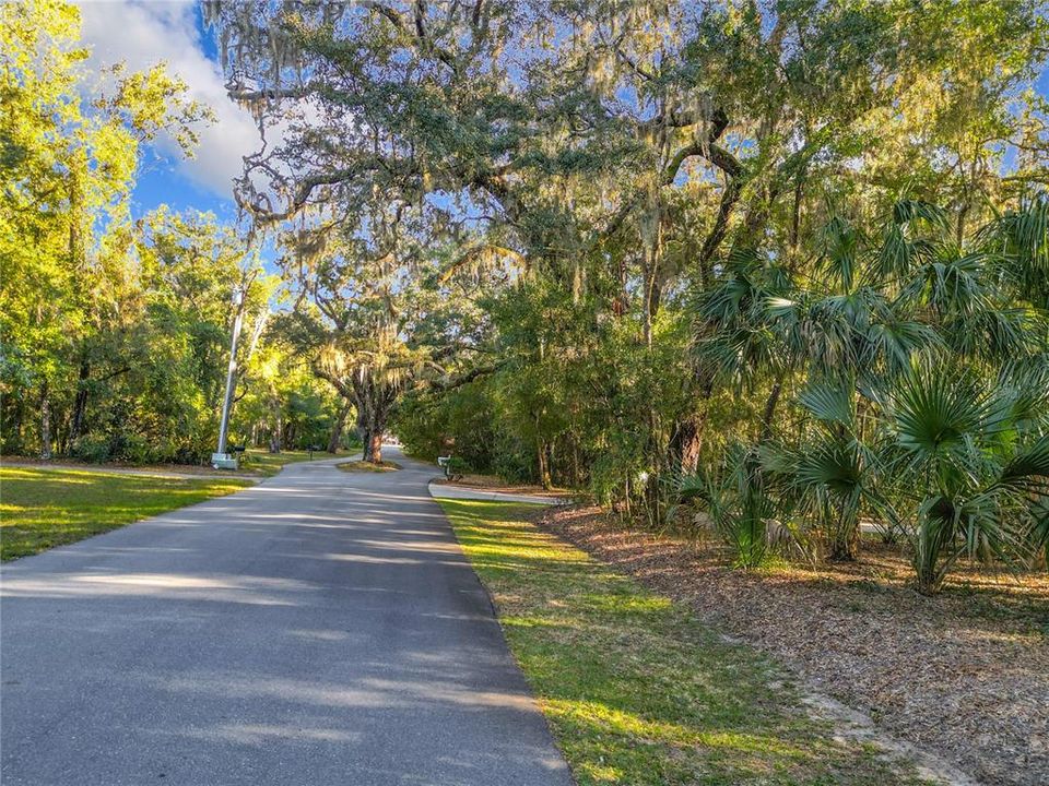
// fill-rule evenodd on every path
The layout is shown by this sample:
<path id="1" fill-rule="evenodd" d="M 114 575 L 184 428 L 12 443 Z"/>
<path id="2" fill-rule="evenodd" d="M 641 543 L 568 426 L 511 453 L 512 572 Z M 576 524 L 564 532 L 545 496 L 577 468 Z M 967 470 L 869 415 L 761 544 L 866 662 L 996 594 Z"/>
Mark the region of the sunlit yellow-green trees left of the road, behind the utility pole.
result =
<path id="1" fill-rule="evenodd" d="M 338 407 L 264 332 L 276 279 L 208 214 L 131 192 L 162 131 L 190 154 L 207 112 L 162 67 L 80 68 L 79 11 L 0 5 L 0 430 L 4 453 L 205 461 L 215 449 L 234 288 L 251 332 L 234 437 L 327 445 Z M 280 367 L 280 368 L 278 368 Z"/>

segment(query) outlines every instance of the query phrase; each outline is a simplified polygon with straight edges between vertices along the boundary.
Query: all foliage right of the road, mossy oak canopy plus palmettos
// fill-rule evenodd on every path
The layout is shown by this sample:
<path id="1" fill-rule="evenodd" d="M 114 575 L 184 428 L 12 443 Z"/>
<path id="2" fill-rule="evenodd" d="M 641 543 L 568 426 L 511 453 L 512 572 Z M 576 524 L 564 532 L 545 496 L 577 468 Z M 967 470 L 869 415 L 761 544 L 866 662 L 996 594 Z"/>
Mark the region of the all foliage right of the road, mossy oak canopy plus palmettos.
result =
<path id="1" fill-rule="evenodd" d="M 1038 2 L 210 10 L 231 95 L 285 132 L 236 195 L 347 378 L 429 369 L 381 406 L 412 451 L 741 564 L 873 527 L 934 591 L 1044 550 Z M 461 319 L 401 319 L 435 302 Z"/>

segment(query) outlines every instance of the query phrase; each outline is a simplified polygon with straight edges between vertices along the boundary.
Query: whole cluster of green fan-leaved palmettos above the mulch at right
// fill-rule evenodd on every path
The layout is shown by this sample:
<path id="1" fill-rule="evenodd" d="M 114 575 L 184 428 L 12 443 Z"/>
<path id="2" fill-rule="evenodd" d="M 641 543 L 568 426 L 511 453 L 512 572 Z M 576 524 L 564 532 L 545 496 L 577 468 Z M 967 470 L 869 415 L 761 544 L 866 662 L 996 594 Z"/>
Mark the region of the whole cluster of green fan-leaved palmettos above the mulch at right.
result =
<path id="1" fill-rule="evenodd" d="M 704 481 L 711 515 L 787 522 L 838 557 L 854 556 L 863 520 L 901 529 L 930 592 L 964 556 L 1044 547 L 1047 231 L 1041 200 L 965 242 L 942 210 L 905 201 L 870 236 L 832 218 L 804 279 L 753 250 L 727 260 L 696 309 L 700 352 L 735 379 L 808 382 L 797 429 L 735 449 L 750 460 L 733 453 Z"/>

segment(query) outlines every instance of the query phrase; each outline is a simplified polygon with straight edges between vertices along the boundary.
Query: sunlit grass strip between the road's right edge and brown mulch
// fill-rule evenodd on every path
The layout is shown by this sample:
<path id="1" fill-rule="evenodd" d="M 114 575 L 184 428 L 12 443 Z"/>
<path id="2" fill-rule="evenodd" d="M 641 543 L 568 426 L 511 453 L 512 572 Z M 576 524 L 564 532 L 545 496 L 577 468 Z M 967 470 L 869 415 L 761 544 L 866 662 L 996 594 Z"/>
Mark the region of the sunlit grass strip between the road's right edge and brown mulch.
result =
<path id="1" fill-rule="evenodd" d="M 836 741 L 756 650 L 528 523 L 531 505 L 439 502 L 581 786 L 922 783 Z"/>

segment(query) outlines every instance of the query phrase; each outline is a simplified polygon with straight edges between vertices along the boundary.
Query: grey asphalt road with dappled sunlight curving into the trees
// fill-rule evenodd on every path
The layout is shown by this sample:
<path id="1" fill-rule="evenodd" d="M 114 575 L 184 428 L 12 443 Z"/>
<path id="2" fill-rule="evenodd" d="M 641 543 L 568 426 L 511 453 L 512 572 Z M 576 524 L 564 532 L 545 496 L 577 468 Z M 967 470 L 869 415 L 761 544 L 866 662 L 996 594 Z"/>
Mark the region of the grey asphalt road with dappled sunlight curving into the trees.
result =
<path id="1" fill-rule="evenodd" d="M 434 469 L 391 453 L 0 570 L 3 786 L 568 786 Z"/>

